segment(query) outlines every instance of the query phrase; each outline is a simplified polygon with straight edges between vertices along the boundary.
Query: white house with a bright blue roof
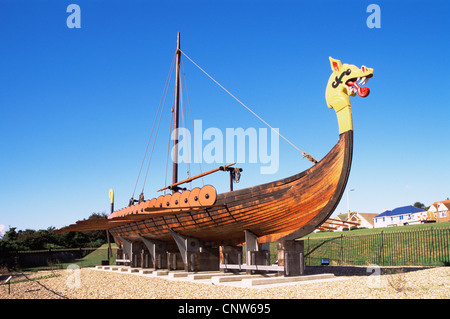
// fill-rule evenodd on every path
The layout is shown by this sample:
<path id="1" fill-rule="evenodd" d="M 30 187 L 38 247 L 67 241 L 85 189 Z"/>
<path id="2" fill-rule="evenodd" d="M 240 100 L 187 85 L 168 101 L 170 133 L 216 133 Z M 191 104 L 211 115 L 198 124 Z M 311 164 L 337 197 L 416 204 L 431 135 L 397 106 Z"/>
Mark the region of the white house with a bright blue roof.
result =
<path id="1" fill-rule="evenodd" d="M 380 228 L 419 224 L 422 222 L 421 214 L 424 212 L 423 209 L 412 205 L 386 210 L 374 217 L 374 226 L 375 228 Z"/>

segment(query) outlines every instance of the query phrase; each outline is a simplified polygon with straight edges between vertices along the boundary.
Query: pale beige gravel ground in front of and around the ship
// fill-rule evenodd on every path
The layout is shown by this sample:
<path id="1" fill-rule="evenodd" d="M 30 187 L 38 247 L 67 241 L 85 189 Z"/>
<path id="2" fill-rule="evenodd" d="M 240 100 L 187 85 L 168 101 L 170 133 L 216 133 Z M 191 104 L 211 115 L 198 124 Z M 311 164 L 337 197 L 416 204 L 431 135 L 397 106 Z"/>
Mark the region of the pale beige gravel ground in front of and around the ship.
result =
<path id="1" fill-rule="evenodd" d="M 0 299 L 449 299 L 450 267 L 307 267 L 342 280 L 265 289 L 238 288 L 82 268 L 26 274 L 41 279 L 0 286 Z M 78 276 L 76 276 L 78 274 Z M 51 278 L 43 276 L 56 275 Z M 12 281 L 23 279 L 17 276 Z M 4 277 L 3 277 L 4 280 Z M 3 280 L 1 282 L 3 282 Z"/>

